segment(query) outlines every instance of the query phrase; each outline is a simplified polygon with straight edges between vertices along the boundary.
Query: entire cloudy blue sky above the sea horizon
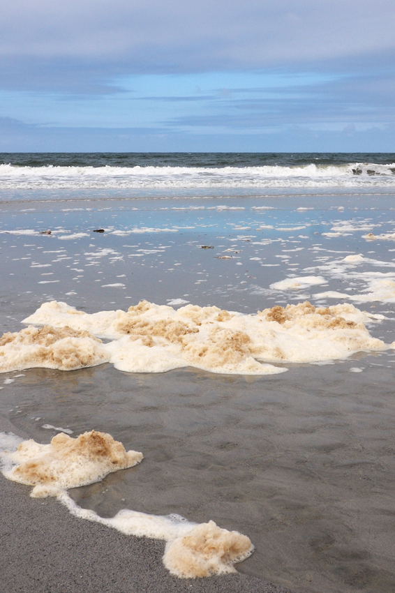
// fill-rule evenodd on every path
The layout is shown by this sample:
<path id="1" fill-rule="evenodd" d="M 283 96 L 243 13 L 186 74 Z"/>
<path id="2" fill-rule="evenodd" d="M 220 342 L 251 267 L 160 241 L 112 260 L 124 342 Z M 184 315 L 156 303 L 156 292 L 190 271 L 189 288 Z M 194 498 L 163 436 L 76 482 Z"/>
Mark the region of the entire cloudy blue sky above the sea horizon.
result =
<path id="1" fill-rule="evenodd" d="M 395 152 L 394 0 L 6 0 L 0 151 Z"/>

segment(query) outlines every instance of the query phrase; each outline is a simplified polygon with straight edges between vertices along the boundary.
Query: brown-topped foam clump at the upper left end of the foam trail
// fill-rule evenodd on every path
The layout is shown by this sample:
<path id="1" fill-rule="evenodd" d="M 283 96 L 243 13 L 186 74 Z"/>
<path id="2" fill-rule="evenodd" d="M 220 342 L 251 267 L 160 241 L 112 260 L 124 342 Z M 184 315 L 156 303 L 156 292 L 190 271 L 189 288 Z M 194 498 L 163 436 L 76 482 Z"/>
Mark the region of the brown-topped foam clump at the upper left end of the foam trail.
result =
<path id="1" fill-rule="evenodd" d="M 10 453 L 15 467 L 6 472 L 8 479 L 35 486 L 33 497 L 59 494 L 64 488 L 76 488 L 103 479 L 110 472 L 132 467 L 142 460 L 142 453 L 125 451 L 123 444 L 107 433 L 91 430 L 73 439 L 59 433 L 50 444 L 33 440 L 22 442 Z"/>

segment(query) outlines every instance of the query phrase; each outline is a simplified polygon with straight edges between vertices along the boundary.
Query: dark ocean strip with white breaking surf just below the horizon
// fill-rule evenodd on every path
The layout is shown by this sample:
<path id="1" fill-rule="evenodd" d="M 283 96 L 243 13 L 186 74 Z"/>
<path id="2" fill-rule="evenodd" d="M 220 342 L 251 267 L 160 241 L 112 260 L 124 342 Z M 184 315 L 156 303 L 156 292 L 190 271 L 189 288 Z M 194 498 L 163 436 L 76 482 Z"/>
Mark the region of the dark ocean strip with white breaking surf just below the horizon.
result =
<path id="1" fill-rule="evenodd" d="M 385 153 L 0 153 L 3 189 L 375 188 L 395 184 Z"/>

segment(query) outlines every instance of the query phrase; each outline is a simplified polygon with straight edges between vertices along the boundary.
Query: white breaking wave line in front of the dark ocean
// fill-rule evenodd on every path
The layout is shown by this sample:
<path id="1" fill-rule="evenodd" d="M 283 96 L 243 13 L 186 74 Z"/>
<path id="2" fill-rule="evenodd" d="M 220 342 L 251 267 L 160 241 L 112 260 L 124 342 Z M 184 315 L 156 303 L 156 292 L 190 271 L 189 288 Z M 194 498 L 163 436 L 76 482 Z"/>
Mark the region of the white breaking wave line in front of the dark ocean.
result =
<path id="1" fill-rule="evenodd" d="M 395 163 L 283 167 L 20 167 L 0 165 L 3 189 L 363 188 L 395 186 Z"/>

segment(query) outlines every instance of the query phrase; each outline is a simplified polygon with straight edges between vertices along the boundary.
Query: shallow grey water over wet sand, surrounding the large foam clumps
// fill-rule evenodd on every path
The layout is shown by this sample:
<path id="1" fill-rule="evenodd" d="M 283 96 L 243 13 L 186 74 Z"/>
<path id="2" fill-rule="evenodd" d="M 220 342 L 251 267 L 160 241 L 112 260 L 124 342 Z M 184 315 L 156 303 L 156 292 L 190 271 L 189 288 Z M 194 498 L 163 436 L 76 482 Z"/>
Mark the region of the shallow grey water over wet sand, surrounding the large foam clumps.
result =
<path id="1" fill-rule="evenodd" d="M 305 299 L 336 304 L 341 299 L 314 294 L 362 294 L 369 273 L 395 277 L 395 242 L 363 238 L 394 232 L 384 190 L 177 202 L 165 194 L 71 197 L 34 202 L 20 193 L 31 200 L 22 208 L 1 204 L 0 230 L 11 232 L 0 234 L 4 331 L 19 330 L 50 299 L 89 313 L 143 298 L 255 313 Z M 342 224 L 340 236 L 322 235 Z M 100 227 L 105 233 L 92 232 Z M 53 234 L 12 234 L 18 228 Z M 86 236 L 67 238 L 80 233 Z M 359 253 L 369 261 L 339 263 Z M 225 254 L 232 259 L 217 259 Z M 270 289 L 292 275 L 322 276 L 326 284 Z M 368 329 L 391 343 L 395 301 L 387 300 L 352 302 L 387 317 Z M 394 351 L 285 367 L 288 373 L 268 377 L 191 368 L 131 374 L 108 364 L 24 370 L 2 375 L 0 413 L 39 442 L 55 434 L 45 424 L 74 435 L 96 428 L 144 453 L 142 465 L 71 491 L 102 516 L 128 507 L 213 519 L 255 543 L 240 571 L 306 592 L 392 591 Z"/>

